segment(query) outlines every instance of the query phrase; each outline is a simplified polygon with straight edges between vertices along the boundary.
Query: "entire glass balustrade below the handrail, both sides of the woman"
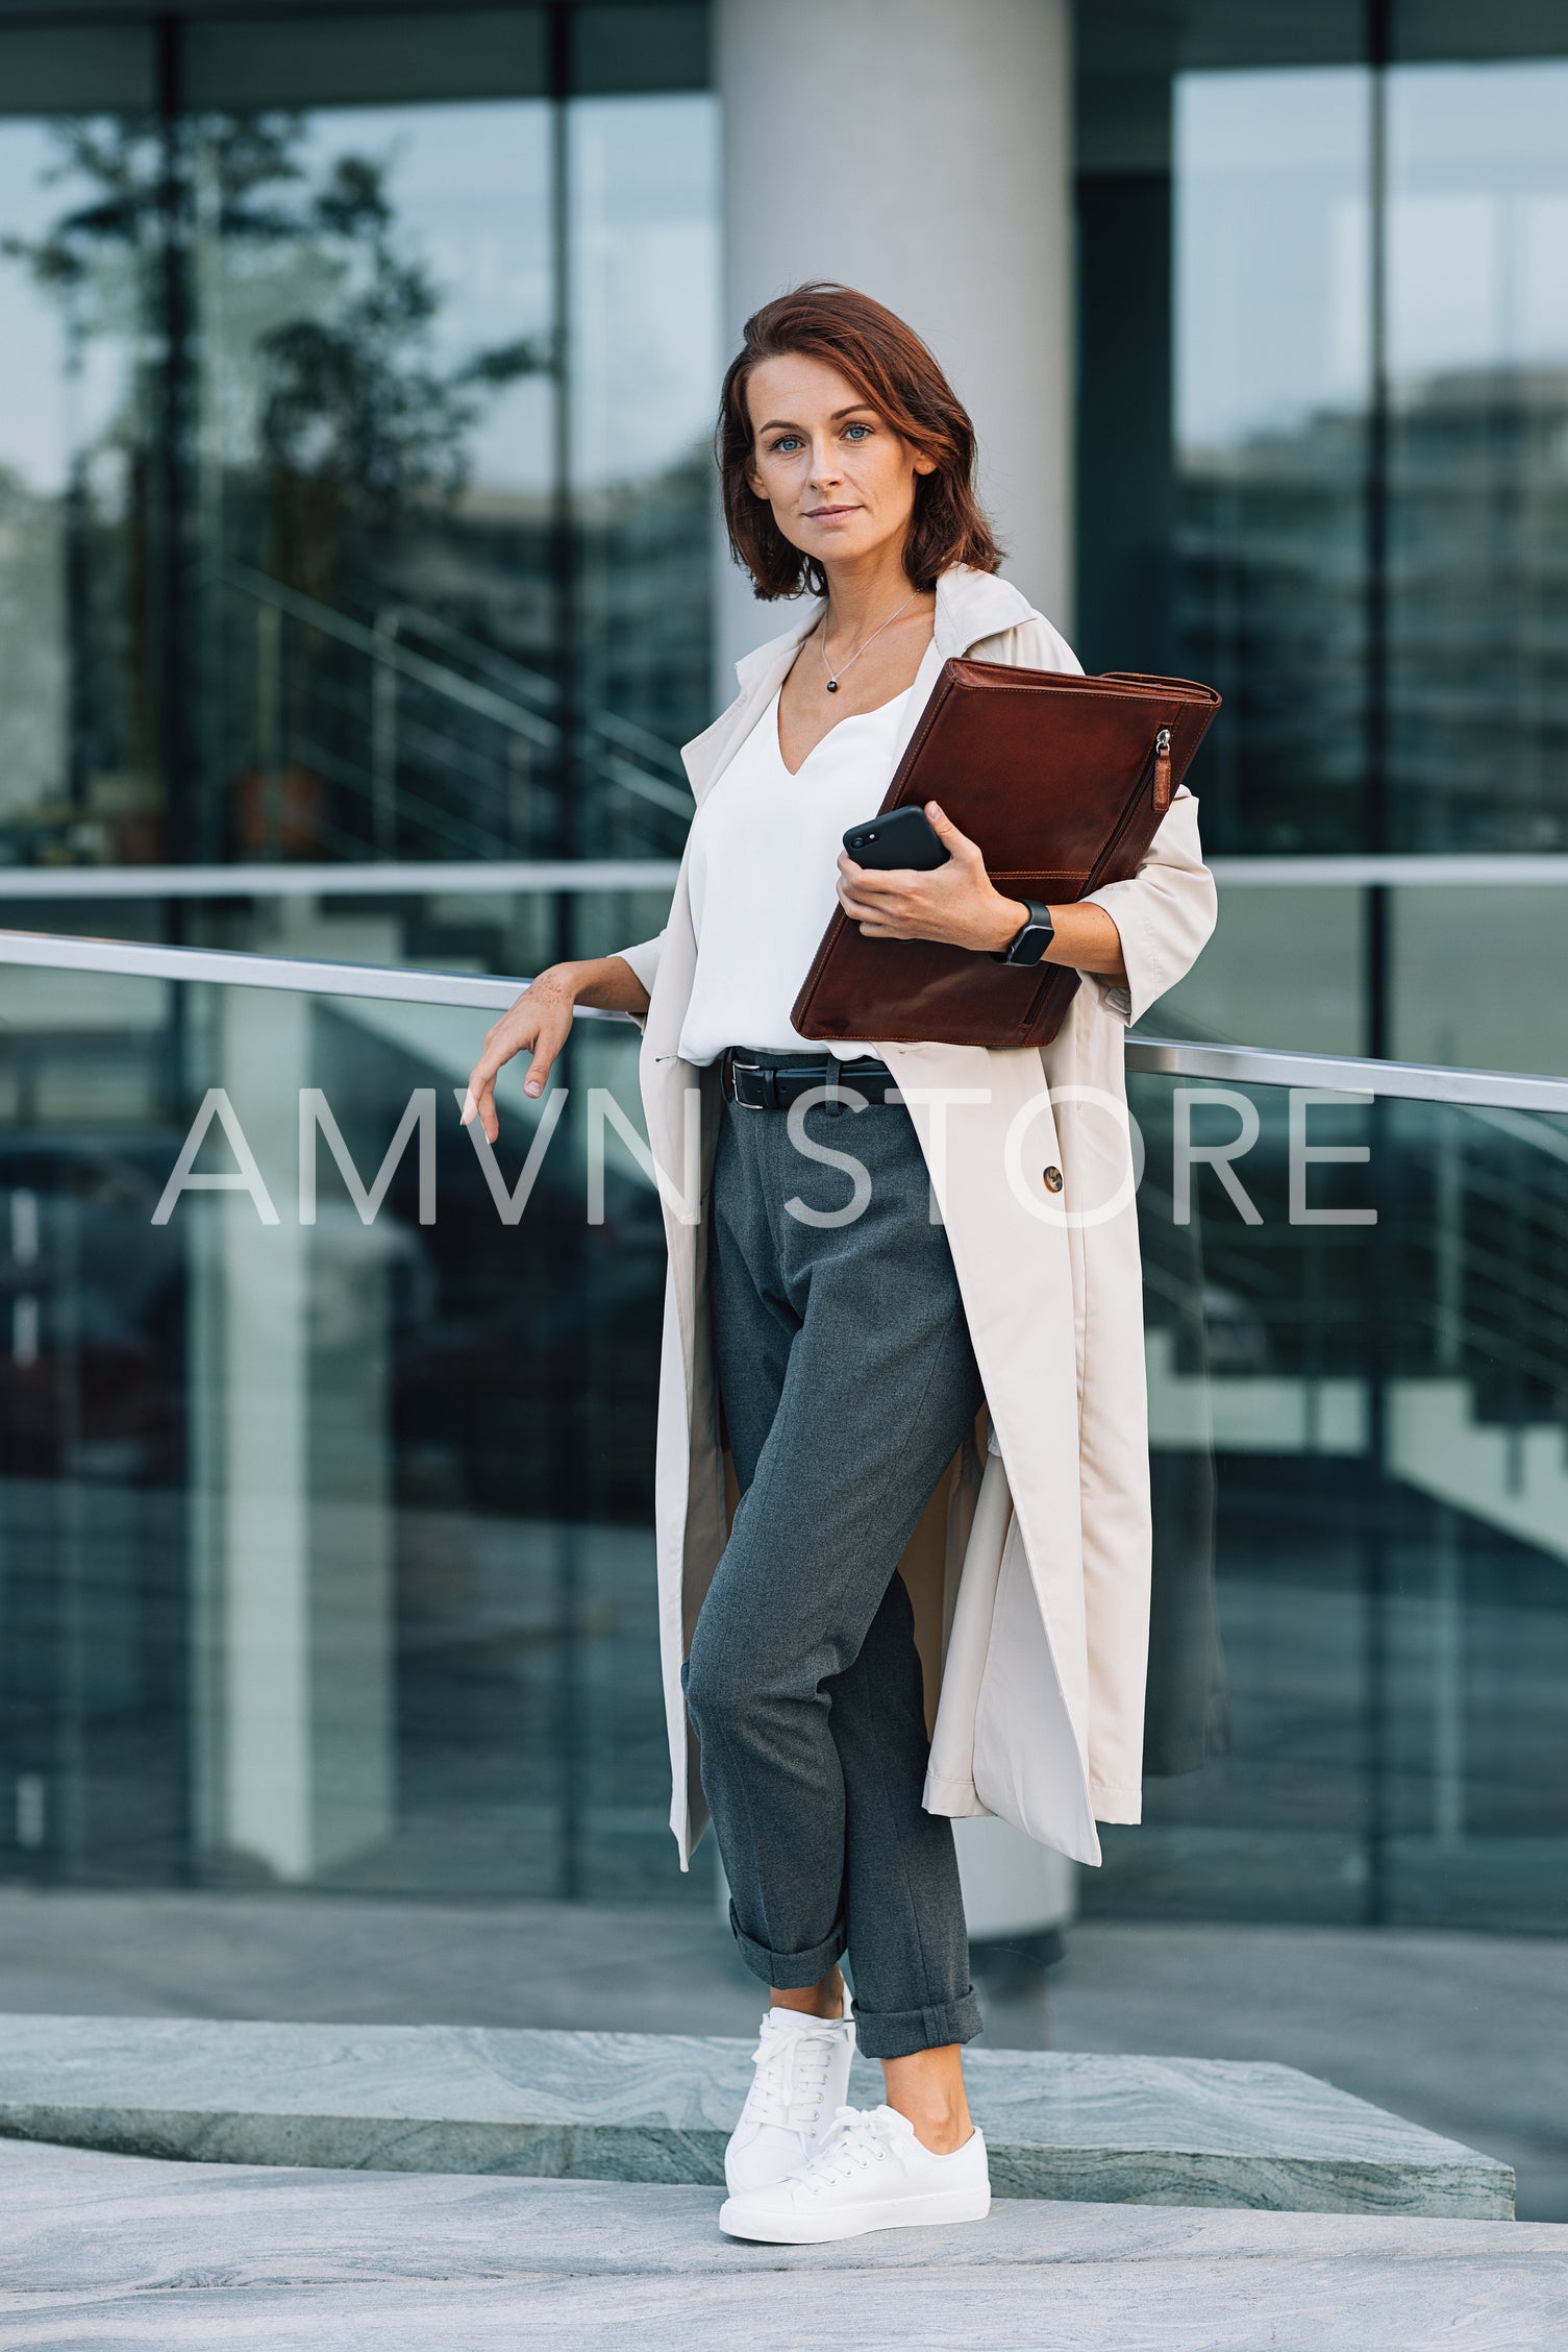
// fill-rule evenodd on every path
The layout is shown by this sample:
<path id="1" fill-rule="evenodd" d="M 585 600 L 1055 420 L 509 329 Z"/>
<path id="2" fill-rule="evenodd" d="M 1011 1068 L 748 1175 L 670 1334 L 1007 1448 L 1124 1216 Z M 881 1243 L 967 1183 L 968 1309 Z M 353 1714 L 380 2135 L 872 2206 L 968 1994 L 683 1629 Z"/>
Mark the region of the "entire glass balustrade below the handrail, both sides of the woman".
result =
<path id="1" fill-rule="evenodd" d="M 487 1164 L 489 1014 L 369 983 L 0 962 L 0 1867 L 705 1905 L 635 1030 L 578 1023 L 543 1105 L 508 1073 Z M 1568 1117 L 1133 1110 L 1147 1818 L 1079 1905 L 1561 1929 Z"/>

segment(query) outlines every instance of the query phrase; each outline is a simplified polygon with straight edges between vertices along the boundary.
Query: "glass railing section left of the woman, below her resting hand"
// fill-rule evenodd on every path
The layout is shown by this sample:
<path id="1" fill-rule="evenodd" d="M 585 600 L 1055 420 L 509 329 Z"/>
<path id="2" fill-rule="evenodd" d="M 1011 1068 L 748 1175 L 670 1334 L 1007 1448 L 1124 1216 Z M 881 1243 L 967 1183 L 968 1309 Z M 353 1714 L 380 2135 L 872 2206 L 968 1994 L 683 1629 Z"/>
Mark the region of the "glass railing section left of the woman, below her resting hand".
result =
<path id="1" fill-rule="evenodd" d="M 510 1073 L 487 1164 L 482 1011 L 0 967 L 0 1018 L 2 1867 L 689 1893 L 635 1030 Z"/>

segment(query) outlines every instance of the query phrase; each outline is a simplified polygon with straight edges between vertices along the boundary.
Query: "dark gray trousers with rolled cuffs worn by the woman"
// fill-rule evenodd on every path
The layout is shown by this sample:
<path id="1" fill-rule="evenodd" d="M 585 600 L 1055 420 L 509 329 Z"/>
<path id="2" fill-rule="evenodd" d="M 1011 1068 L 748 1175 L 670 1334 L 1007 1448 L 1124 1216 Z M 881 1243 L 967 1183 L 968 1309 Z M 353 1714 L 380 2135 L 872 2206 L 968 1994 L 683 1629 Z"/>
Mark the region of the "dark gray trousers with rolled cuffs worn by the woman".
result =
<path id="1" fill-rule="evenodd" d="M 741 1957 L 813 1985 L 849 1955 L 872 2058 L 969 2042 L 952 1825 L 922 1809 L 926 1722 L 898 1557 L 980 1409 L 980 1374 L 926 1162 L 898 1105 L 724 1108 L 708 1284 L 741 1508 L 686 1661 L 703 1790 Z"/>

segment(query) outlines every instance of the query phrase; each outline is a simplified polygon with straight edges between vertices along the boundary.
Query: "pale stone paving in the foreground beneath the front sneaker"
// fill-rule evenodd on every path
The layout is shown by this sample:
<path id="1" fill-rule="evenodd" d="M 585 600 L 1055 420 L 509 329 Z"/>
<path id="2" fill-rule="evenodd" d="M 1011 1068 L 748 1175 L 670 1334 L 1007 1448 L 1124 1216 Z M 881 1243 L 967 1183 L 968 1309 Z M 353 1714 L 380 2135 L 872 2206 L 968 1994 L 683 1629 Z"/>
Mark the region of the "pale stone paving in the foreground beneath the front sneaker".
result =
<path id="1" fill-rule="evenodd" d="M 59 2352 L 1549 2352 L 1568 2230 L 997 2204 L 736 2246 L 715 2190 L 0 2145 L 0 2345 Z"/>

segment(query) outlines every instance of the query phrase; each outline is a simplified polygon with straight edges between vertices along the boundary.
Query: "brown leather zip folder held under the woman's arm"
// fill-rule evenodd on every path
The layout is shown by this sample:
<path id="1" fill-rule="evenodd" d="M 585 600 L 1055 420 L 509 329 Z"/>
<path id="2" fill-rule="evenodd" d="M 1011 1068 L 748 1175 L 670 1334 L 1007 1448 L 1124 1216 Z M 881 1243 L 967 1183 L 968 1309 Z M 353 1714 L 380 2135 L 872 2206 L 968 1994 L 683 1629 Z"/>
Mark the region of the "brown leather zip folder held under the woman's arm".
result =
<path id="1" fill-rule="evenodd" d="M 1218 708 L 1187 677 L 947 661 L 877 814 L 938 800 L 997 889 L 1065 906 L 1138 873 Z M 790 1018 L 802 1037 L 1051 1044 L 1077 985 L 1065 964 L 865 938 L 835 908 Z"/>

